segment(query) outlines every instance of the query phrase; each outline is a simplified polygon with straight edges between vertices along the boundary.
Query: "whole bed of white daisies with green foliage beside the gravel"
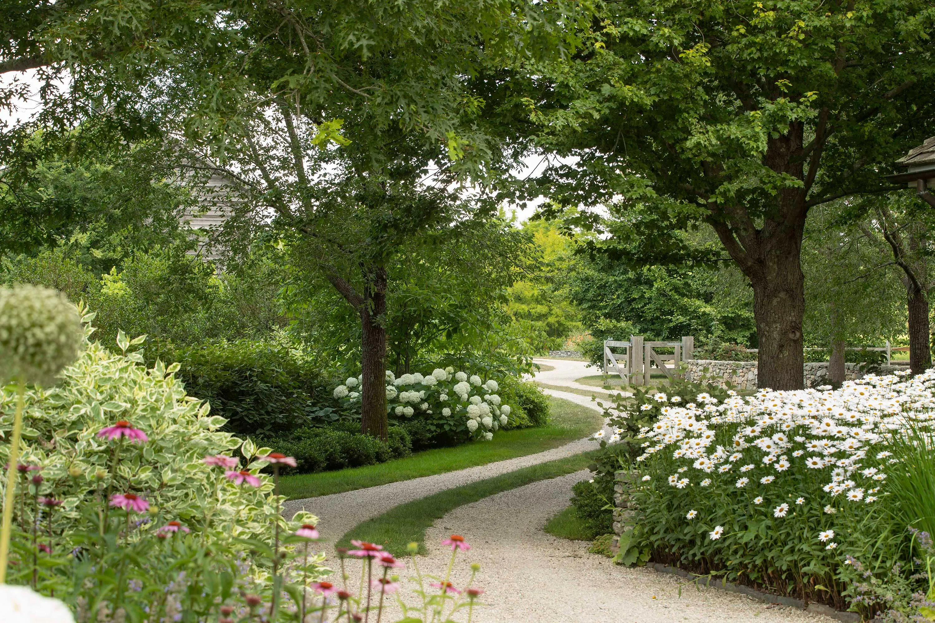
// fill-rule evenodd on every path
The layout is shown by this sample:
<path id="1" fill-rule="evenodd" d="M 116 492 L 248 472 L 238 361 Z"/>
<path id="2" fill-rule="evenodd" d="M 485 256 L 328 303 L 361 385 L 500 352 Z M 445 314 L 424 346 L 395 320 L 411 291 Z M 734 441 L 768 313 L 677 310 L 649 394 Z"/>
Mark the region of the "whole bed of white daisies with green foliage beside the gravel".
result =
<path id="1" fill-rule="evenodd" d="M 660 397 L 661 417 L 636 439 L 630 544 L 697 573 L 872 616 L 857 580 L 919 571 L 907 524 L 925 517 L 896 512 L 889 478 L 932 477 L 930 461 L 910 465 L 894 450 L 907 432 L 930 434 L 935 371 L 829 389 Z"/>

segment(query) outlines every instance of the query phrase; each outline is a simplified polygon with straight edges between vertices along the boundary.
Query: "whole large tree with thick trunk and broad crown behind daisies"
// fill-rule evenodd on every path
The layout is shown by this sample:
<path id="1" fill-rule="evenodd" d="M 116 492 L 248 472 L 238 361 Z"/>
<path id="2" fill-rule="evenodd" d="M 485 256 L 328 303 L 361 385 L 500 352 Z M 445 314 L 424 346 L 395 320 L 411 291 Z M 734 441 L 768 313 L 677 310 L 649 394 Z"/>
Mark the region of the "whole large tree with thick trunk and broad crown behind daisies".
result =
<path id="1" fill-rule="evenodd" d="M 753 286 L 760 386 L 801 388 L 806 218 L 891 188 L 930 133 L 933 21 L 924 0 L 606 3 L 590 50 L 526 72 L 516 108 L 574 157 L 537 191 L 707 223 Z"/>

